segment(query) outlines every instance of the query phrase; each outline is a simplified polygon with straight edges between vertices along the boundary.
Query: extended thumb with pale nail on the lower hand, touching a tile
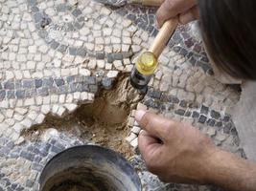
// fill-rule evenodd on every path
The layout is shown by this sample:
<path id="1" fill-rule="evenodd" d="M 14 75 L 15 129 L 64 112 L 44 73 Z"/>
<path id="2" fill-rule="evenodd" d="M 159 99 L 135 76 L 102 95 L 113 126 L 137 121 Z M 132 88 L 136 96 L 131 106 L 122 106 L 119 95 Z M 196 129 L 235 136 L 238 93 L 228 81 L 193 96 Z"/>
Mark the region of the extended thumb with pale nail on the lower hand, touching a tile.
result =
<path id="1" fill-rule="evenodd" d="M 135 120 L 142 129 L 163 142 L 166 141 L 168 134 L 171 132 L 171 127 L 175 124 L 173 120 L 146 113 L 142 110 L 136 111 Z"/>

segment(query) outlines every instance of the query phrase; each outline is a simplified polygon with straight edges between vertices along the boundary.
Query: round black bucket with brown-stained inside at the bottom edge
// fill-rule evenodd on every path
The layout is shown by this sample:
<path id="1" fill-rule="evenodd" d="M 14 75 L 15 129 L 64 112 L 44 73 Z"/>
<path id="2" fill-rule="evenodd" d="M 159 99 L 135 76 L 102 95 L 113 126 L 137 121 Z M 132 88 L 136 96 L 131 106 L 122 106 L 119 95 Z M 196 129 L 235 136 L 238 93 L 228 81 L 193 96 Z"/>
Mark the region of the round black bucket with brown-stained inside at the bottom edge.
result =
<path id="1" fill-rule="evenodd" d="M 66 149 L 48 161 L 40 191 L 141 191 L 134 168 L 120 154 L 96 145 Z"/>

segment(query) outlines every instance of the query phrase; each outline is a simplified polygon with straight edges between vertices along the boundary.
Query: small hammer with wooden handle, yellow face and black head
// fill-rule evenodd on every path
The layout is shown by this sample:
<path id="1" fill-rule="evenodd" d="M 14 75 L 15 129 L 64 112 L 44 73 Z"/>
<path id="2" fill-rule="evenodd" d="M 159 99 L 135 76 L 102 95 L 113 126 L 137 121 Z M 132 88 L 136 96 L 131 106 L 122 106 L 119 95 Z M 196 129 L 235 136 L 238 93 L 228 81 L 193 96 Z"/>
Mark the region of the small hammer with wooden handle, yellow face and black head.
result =
<path id="1" fill-rule="evenodd" d="M 154 38 L 149 51 L 141 53 L 130 73 L 130 84 L 141 92 L 147 92 L 148 84 L 158 66 L 157 59 L 165 49 L 178 25 L 177 17 L 166 21 Z"/>

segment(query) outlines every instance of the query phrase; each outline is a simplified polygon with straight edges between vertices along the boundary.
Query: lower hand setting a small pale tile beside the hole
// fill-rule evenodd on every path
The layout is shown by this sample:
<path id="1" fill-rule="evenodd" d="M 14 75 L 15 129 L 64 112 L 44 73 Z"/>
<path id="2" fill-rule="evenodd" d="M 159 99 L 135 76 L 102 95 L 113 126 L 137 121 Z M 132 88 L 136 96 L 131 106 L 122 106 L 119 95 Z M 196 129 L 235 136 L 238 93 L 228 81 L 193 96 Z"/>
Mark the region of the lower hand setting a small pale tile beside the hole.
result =
<path id="1" fill-rule="evenodd" d="M 151 173 L 160 180 L 180 183 L 207 183 L 208 163 L 219 152 L 210 138 L 193 126 L 137 111 L 136 121 L 143 131 L 139 149 Z"/>

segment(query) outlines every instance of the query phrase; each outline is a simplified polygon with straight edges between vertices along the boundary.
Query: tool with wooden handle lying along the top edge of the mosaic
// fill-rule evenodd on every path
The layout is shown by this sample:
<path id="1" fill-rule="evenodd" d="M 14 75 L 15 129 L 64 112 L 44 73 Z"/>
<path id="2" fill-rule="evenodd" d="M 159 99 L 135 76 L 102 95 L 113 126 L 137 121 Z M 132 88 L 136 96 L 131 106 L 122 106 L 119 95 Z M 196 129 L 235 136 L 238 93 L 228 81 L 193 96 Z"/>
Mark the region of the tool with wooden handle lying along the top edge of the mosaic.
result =
<path id="1" fill-rule="evenodd" d="M 122 7 L 126 5 L 141 5 L 141 6 L 152 6 L 159 7 L 164 0 L 94 0 L 107 6 Z"/>

